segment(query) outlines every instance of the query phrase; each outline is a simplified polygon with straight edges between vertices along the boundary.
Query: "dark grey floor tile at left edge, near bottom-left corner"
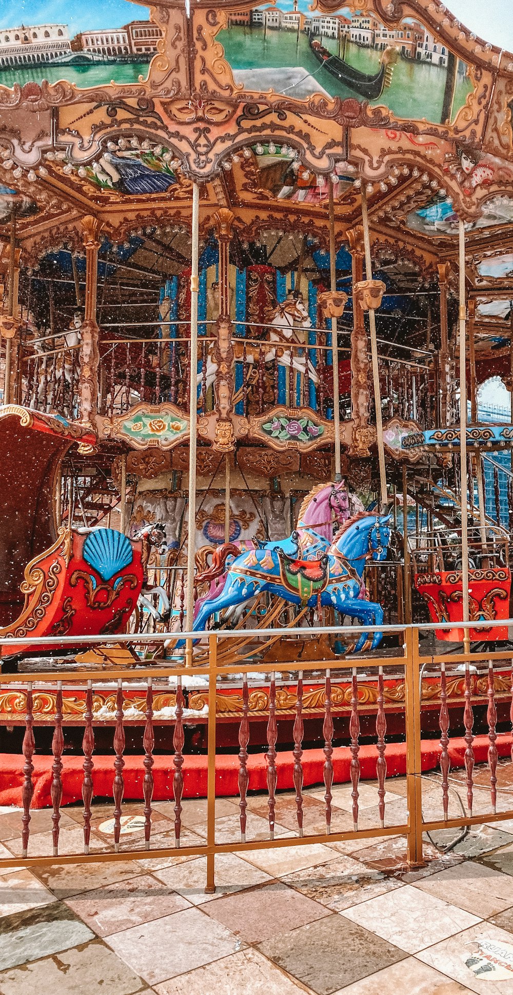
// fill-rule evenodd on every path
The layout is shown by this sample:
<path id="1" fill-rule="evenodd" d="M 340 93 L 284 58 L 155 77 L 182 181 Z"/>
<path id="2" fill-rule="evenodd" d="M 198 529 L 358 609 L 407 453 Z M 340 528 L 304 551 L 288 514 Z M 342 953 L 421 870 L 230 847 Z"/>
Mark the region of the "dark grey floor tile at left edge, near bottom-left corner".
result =
<path id="1" fill-rule="evenodd" d="M 95 934 L 61 901 L 0 919 L 0 971 L 87 943 Z"/>

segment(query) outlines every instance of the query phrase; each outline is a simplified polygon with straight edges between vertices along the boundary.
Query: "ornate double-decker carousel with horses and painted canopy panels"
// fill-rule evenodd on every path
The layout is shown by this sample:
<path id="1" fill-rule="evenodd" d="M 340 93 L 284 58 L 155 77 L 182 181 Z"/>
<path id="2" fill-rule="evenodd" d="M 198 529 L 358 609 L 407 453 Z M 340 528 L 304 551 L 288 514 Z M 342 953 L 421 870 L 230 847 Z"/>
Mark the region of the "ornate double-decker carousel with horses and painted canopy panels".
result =
<path id="1" fill-rule="evenodd" d="M 98 28 L 78 6 L 74 51 Z M 304 656 L 333 671 L 344 738 L 337 664 L 364 655 L 362 721 L 381 697 L 393 734 L 384 624 L 444 626 L 425 652 L 508 645 L 513 401 L 482 398 L 513 397 L 513 55 L 437 0 L 364 8 L 161 0 L 144 66 L 0 60 L 1 670 L 126 668 L 134 748 L 137 668 L 165 748 L 180 696 L 158 672 L 185 666 L 204 749 L 211 632 L 219 664 L 258 668 L 216 694 L 226 746 L 242 714 L 265 741 L 262 673 Z M 13 749 L 25 687 L 0 694 Z M 315 672 L 302 695 L 315 742 Z M 116 691 L 62 696 L 70 748 L 92 707 L 112 733 Z M 439 709 L 426 671 L 426 732 Z M 38 693 L 36 726 L 55 712 Z"/>

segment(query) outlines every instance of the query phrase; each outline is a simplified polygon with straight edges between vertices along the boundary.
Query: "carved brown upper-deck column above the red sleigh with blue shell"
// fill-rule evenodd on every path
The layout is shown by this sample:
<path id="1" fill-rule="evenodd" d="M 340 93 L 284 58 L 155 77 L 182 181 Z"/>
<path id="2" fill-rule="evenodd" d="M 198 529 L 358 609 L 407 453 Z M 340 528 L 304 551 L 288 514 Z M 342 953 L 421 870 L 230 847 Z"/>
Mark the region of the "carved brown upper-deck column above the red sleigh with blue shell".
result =
<path id="1" fill-rule="evenodd" d="M 98 369 L 100 352 L 98 339 L 100 329 L 97 323 L 98 292 L 98 236 L 102 225 L 98 218 L 88 214 L 82 219 L 84 247 L 86 249 L 86 302 L 84 321 L 81 325 L 79 398 L 80 421 L 94 428 L 98 411 Z"/>

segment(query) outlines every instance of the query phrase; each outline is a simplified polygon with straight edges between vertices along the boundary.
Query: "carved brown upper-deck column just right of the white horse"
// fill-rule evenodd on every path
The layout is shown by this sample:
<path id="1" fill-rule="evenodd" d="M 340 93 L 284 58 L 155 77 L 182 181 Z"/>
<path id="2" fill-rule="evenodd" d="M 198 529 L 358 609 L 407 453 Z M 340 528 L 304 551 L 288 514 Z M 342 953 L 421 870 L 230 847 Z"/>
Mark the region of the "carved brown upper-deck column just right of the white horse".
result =
<path id="1" fill-rule="evenodd" d="M 361 225 L 347 233 L 352 259 L 353 288 L 364 279 L 364 229 Z M 369 444 L 373 431 L 370 428 L 371 391 L 369 387 L 369 339 L 362 307 L 357 306 L 353 295 L 353 331 L 351 332 L 351 417 L 353 441 L 350 455 L 370 456 Z"/>

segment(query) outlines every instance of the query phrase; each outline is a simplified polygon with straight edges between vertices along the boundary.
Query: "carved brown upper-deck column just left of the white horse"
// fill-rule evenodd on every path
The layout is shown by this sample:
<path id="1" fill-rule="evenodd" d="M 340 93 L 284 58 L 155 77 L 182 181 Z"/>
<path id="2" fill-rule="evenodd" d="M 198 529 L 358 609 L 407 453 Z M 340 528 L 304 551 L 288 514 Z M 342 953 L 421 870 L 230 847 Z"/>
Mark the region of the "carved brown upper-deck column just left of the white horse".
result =
<path id="1" fill-rule="evenodd" d="M 215 374 L 215 426 L 214 450 L 230 453 L 235 449 L 235 434 L 231 421 L 235 382 L 233 377 L 233 345 L 230 320 L 230 238 L 234 215 L 227 207 L 220 207 L 214 214 L 219 243 L 219 317 L 216 321 L 213 358 Z"/>

